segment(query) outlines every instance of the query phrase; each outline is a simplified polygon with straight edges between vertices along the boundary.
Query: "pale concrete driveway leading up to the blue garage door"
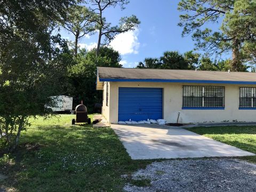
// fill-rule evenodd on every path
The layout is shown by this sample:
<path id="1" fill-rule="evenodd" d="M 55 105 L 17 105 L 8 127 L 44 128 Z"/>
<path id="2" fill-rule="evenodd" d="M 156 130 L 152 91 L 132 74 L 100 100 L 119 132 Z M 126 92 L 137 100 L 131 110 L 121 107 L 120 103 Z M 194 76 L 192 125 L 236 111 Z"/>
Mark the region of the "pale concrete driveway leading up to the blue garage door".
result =
<path id="1" fill-rule="evenodd" d="M 111 128 L 116 132 L 132 159 L 254 155 L 180 127 L 158 124 L 113 124 Z"/>

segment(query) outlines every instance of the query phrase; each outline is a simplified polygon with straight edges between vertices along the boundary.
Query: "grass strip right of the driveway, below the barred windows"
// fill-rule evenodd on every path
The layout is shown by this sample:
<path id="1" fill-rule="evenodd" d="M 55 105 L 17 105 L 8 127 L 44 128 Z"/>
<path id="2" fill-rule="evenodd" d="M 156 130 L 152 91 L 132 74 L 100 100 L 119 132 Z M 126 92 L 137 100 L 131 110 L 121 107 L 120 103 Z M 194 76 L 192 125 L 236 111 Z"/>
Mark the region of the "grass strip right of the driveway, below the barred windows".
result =
<path id="1" fill-rule="evenodd" d="M 256 126 L 191 127 L 187 130 L 256 154 Z M 255 156 L 239 158 L 256 163 Z"/>

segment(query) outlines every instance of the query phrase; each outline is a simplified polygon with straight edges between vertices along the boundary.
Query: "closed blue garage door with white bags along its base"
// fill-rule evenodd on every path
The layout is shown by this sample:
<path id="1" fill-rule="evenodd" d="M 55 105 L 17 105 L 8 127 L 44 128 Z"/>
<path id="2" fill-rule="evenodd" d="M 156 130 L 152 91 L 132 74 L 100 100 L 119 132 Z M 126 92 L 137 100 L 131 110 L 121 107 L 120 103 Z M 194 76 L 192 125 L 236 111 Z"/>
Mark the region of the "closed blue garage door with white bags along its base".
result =
<path id="1" fill-rule="evenodd" d="M 119 87 L 118 121 L 163 117 L 163 89 Z"/>

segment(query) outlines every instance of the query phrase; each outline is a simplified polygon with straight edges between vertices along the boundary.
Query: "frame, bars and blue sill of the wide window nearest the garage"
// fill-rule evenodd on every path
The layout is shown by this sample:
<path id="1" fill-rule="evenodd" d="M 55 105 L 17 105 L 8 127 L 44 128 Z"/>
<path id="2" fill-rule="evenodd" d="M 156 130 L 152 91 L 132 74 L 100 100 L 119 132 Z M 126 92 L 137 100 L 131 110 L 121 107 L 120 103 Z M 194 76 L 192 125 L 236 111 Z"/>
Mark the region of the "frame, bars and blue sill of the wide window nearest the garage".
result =
<path id="1" fill-rule="evenodd" d="M 184 103 L 184 97 L 194 97 L 194 96 L 185 96 L 186 94 L 185 94 L 185 87 L 189 87 L 189 89 L 191 90 L 191 88 L 192 89 L 197 89 L 197 90 L 199 90 L 199 91 L 201 91 L 202 90 L 202 92 L 200 93 L 200 92 L 198 92 L 197 93 L 197 95 L 199 95 L 199 96 L 197 96 L 197 98 L 201 98 L 202 99 L 202 106 L 185 106 L 185 103 Z M 217 97 L 217 98 L 221 98 L 221 103 L 222 103 L 222 106 L 207 106 L 207 105 L 205 105 L 205 103 L 207 103 L 206 101 L 205 101 L 205 98 L 213 98 L 213 97 L 207 97 L 207 96 L 205 96 L 205 88 L 206 87 L 210 87 L 211 89 L 214 89 L 214 88 L 217 88 L 217 89 L 220 89 L 221 90 L 221 92 L 219 92 L 219 91 L 216 91 L 216 93 L 218 94 L 218 93 L 221 93 L 221 96 L 222 97 Z M 190 91 L 189 90 L 189 91 Z M 211 93 L 212 91 L 209 91 L 209 93 Z M 214 92 L 213 92 L 214 93 Z M 215 94 L 216 94 L 215 93 Z M 188 94 L 191 94 L 191 92 L 188 92 Z M 202 96 L 200 96 L 200 95 L 202 95 Z M 210 94 L 209 94 L 210 95 Z M 199 102 L 201 102 L 200 100 L 199 100 Z M 217 102 L 220 102 L 220 101 L 217 101 Z M 182 86 L 182 109 L 225 109 L 225 86 L 210 86 L 210 85 L 183 85 Z"/>

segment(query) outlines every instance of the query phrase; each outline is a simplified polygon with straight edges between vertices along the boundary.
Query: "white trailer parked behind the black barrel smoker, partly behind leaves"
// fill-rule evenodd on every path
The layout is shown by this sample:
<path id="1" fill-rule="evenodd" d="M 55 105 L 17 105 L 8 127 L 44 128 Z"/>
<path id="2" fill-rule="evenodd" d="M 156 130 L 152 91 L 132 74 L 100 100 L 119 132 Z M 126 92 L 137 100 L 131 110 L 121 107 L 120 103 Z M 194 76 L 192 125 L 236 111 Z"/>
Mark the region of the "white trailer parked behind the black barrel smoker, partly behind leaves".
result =
<path id="1" fill-rule="evenodd" d="M 55 106 L 51 109 L 55 112 L 71 111 L 73 109 L 73 98 L 66 95 L 52 96 L 51 97 Z"/>

